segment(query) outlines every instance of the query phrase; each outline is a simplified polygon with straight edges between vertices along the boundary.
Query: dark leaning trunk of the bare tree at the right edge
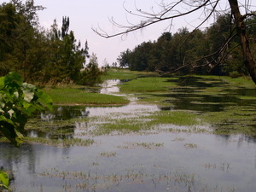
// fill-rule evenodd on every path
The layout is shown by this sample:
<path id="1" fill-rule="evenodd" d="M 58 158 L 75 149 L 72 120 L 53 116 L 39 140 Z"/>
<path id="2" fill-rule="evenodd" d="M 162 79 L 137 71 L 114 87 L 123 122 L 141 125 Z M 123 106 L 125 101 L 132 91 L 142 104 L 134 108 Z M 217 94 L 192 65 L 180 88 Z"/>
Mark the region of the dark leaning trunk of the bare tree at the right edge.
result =
<path id="1" fill-rule="evenodd" d="M 249 41 L 246 34 L 246 25 L 244 23 L 245 17 L 241 15 L 237 0 L 229 0 L 231 13 L 234 15 L 236 22 L 236 32 L 240 38 L 240 44 L 243 55 L 244 65 L 247 67 L 253 82 L 256 84 L 256 63 L 250 49 Z"/>

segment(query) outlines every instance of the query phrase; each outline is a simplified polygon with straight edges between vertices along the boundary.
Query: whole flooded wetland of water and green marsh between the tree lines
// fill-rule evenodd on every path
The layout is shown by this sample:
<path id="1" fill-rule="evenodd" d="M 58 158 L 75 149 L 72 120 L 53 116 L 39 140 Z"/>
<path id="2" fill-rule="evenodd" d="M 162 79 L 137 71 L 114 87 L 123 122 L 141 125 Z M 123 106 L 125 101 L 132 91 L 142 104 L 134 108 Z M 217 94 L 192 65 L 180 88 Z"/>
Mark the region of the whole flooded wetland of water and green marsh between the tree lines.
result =
<path id="1" fill-rule="evenodd" d="M 113 71 L 75 92 L 111 99 L 55 102 L 29 120 L 20 148 L 0 143 L 13 191 L 255 191 L 250 80 Z"/>

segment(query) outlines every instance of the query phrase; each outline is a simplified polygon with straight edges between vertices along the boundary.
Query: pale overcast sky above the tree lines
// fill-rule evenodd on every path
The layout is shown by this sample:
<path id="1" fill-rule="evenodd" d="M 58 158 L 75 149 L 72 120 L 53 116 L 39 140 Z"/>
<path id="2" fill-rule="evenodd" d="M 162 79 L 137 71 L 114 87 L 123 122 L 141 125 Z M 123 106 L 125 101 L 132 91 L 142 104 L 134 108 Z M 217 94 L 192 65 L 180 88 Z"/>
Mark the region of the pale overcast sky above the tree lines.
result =
<path id="1" fill-rule="evenodd" d="M 0 0 L 0 3 L 3 2 L 9 2 L 9 0 Z M 96 53 L 101 66 L 104 59 L 111 65 L 113 61 L 116 61 L 120 52 L 125 49 L 133 49 L 137 44 L 156 40 L 170 24 L 170 21 L 163 22 L 159 25 L 150 26 L 143 31 L 132 32 L 125 37 L 107 39 L 98 36 L 91 30 L 91 27 L 97 28 L 100 26 L 107 32 L 117 32 L 108 18 L 113 17 L 119 23 L 125 24 L 127 13 L 124 5 L 125 8 L 132 11 L 136 6 L 142 10 L 154 9 L 154 11 L 157 11 L 159 7 L 156 3 L 160 3 L 161 0 L 34 0 L 34 2 L 36 5 L 42 5 L 46 8 L 38 12 L 40 24 L 45 28 L 49 28 L 55 19 L 61 27 L 62 17 L 68 16 L 70 30 L 73 30 L 76 39 L 80 40 L 82 44 L 85 40 L 88 41 L 90 55 Z M 224 2 L 223 5 L 225 6 L 226 1 L 221 2 Z M 128 18 L 136 22 L 135 18 L 129 16 Z M 189 15 L 189 17 L 182 20 L 174 20 L 171 32 L 177 32 L 177 29 L 183 26 L 187 26 L 191 30 L 198 22 L 198 15 Z M 211 21 L 207 22 L 205 26 L 210 26 L 210 24 Z"/>

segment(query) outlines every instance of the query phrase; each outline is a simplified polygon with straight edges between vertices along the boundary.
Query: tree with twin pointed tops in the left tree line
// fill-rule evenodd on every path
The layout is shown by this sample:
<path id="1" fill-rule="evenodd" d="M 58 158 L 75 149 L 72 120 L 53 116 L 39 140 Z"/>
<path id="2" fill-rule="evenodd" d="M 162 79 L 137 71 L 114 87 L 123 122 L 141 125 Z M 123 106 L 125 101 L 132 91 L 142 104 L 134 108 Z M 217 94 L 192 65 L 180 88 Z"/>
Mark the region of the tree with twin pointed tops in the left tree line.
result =
<path id="1" fill-rule="evenodd" d="M 81 43 L 77 43 L 73 31 L 69 32 L 69 18 L 62 18 L 61 30 L 59 30 L 56 20 L 49 33 L 49 48 L 51 50 L 48 66 L 45 68 L 45 81 L 53 79 L 61 82 L 69 79 L 79 82 L 81 69 L 85 65 L 86 58 L 89 58 L 88 42 L 84 48 Z"/>

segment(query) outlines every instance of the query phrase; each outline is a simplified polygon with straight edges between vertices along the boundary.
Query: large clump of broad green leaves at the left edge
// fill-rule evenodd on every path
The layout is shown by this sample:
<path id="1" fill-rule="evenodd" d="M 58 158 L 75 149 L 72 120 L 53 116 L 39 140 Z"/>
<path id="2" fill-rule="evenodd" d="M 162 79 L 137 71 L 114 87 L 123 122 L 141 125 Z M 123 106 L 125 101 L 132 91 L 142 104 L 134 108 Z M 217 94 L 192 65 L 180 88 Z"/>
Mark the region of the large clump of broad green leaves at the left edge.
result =
<path id="1" fill-rule="evenodd" d="M 36 110 L 51 108 L 51 99 L 32 84 L 22 83 L 19 73 L 0 78 L 0 134 L 20 146 L 27 119 Z"/>

